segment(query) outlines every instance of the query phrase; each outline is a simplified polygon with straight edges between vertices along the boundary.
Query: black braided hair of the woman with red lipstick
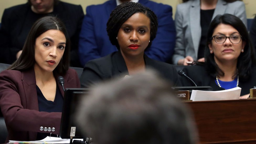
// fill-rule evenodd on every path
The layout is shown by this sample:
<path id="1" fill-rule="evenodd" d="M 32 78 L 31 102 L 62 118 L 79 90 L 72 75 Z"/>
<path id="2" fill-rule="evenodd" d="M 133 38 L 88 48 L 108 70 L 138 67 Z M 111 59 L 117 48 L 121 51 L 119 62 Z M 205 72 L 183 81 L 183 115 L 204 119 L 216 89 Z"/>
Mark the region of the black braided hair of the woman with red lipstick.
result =
<path id="1" fill-rule="evenodd" d="M 125 2 L 118 5 L 110 14 L 107 22 L 107 32 L 109 40 L 112 45 L 115 45 L 117 49 L 120 49 L 118 41 L 116 39 L 119 29 L 122 24 L 129 19 L 135 13 L 143 13 L 150 19 L 150 43 L 147 48 L 151 46 L 152 41 L 156 38 L 157 32 L 157 16 L 149 8 L 142 6 L 135 2 Z"/>

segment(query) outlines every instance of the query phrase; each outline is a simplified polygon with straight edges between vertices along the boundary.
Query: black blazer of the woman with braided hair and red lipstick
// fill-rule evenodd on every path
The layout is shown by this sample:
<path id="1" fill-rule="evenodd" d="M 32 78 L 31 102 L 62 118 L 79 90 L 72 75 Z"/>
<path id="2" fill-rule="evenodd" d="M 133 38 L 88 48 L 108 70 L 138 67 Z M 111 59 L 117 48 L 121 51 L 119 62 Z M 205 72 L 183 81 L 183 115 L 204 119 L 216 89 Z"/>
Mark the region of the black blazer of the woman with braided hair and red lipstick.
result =
<path id="1" fill-rule="evenodd" d="M 146 68 L 153 68 L 167 81 L 180 86 L 178 73 L 173 65 L 153 60 L 144 54 Z M 120 51 L 113 52 L 105 57 L 97 58 L 86 63 L 80 78 L 81 87 L 89 87 L 95 82 L 110 79 L 112 77 L 124 77 L 129 75 L 124 58 Z"/>

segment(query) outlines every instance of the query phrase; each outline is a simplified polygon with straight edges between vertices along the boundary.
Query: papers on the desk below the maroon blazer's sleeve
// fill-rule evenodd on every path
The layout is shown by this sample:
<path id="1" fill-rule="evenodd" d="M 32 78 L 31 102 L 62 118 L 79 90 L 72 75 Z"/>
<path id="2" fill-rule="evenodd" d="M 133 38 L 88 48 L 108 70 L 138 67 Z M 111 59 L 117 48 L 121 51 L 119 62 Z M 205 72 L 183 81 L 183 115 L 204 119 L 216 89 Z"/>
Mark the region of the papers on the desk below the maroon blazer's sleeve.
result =
<path id="1" fill-rule="evenodd" d="M 73 139 L 73 140 L 83 140 L 83 139 Z M 47 144 L 47 143 L 70 143 L 70 139 L 62 139 L 60 137 L 49 137 L 39 140 L 39 141 L 12 141 L 9 140 L 9 143 L 38 143 L 38 144 Z"/>

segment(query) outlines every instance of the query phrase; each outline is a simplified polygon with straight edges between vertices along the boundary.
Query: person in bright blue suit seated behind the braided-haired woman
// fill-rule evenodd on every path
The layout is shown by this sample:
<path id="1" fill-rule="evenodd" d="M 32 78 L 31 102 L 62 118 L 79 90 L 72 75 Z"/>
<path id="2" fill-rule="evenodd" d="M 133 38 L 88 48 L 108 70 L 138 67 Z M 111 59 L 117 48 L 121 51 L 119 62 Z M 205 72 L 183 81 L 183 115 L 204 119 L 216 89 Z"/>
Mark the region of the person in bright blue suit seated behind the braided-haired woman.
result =
<path id="1" fill-rule="evenodd" d="M 149 0 L 109 0 L 103 4 L 88 6 L 79 37 L 79 56 L 84 66 L 89 60 L 100 58 L 117 51 L 109 41 L 106 23 L 114 8 L 123 2 L 138 2 L 150 8 L 158 19 L 156 39 L 150 49 L 145 51 L 148 57 L 159 61 L 171 61 L 175 46 L 175 25 L 172 19 L 172 7 Z"/>

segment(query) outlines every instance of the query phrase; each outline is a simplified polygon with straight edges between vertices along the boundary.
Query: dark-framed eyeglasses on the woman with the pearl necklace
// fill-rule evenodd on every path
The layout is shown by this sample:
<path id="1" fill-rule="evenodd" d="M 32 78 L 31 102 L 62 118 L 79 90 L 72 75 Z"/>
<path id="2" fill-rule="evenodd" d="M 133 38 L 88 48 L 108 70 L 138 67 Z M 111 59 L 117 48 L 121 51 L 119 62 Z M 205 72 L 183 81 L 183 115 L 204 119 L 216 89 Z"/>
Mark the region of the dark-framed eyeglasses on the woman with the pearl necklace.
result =
<path id="1" fill-rule="evenodd" d="M 217 44 L 223 44 L 226 39 L 228 38 L 233 44 L 238 44 L 241 39 L 242 36 L 241 35 L 231 35 L 231 36 L 225 36 L 225 35 L 215 35 L 212 37 L 212 39 L 214 38 L 215 42 Z"/>

